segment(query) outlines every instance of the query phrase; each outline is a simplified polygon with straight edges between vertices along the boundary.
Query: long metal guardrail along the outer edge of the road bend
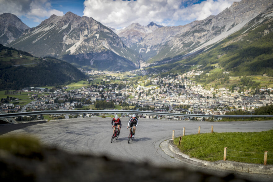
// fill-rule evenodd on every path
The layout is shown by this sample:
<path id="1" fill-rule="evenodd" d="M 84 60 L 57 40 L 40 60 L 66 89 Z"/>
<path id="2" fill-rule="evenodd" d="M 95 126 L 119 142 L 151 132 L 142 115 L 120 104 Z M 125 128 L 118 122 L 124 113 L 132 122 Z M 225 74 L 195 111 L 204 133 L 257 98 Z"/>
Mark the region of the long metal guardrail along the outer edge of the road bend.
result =
<path id="1" fill-rule="evenodd" d="M 200 117 L 200 118 L 271 118 L 273 115 L 207 115 L 207 114 L 182 114 L 182 113 L 166 113 L 152 111 L 133 111 L 133 110 L 57 110 L 57 111 L 33 111 L 0 114 L 0 118 L 13 118 L 19 116 L 33 116 L 44 114 L 118 114 L 118 113 L 135 113 L 149 115 L 164 116 L 182 116 L 182 117 Z"/>

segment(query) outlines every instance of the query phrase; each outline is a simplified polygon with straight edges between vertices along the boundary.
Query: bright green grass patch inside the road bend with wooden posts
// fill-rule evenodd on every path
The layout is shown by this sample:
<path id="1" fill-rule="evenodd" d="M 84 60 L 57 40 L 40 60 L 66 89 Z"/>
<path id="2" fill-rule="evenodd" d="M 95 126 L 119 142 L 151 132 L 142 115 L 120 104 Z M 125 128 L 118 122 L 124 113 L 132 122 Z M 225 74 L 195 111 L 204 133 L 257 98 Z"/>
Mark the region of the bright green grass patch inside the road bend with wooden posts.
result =
<path id="1" fill-rule="evenodd" d="M 273 130 L 247 133 L 205 133 L 182 137 L 178 148 L 190 157 L 213 162 L 223 160 L 224 147 L 227 147 L 227 160 L 257 164 L 263 164 L 266 150 L 268 151 L 267 164 L 273 164 L 272 139 Z M 178 145 L 178 142 L 179 137 L 174 139 L 174 144 Z"/>

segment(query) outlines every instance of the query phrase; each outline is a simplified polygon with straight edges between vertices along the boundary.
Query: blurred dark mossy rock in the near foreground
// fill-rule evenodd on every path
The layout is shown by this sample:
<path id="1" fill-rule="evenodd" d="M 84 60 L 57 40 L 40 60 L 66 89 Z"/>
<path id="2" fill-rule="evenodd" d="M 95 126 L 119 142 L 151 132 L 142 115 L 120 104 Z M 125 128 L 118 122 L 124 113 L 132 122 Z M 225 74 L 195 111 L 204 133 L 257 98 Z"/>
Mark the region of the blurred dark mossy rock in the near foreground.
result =
<path id="1" fill-rule="evenodd" d="M 220 178 L 185 168 L 72 154 L 20 136 L 0 137 L 0 168 L 1 181 L 247 181 L 234 175 Z"/>

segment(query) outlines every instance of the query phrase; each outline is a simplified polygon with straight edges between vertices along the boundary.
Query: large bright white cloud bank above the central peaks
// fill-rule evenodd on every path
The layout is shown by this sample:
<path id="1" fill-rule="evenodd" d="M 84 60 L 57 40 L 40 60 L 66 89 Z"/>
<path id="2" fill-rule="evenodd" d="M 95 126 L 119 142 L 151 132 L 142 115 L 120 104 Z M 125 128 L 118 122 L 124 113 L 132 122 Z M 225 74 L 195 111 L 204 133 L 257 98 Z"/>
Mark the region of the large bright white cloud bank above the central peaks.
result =
<path id="1" fill-rule="evenodd" d="M 234 1 L 236 0 L 207 0 L 193 4 L 196 0 L 85 0 L 83 13 L 84 16 L 114 28 L 135 22 L 147 25 L 151 21 L 172 25 L 176 21 L 202 20 L 210 15 L 217 15 Z M 183 7 L 184 2 L 187 2 L 187 7 Z"/>

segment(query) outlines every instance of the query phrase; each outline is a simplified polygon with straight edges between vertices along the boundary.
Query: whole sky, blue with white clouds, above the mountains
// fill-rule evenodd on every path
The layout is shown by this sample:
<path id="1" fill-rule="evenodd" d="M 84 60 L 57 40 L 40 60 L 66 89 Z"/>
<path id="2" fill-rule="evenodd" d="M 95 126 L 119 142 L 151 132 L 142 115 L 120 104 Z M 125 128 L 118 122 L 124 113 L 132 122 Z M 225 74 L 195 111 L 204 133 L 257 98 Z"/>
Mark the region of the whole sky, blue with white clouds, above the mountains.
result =
<path id="1" fill-rule="evenodd" d="M 217 15 L 234 1 L 240 0 L 0 0 L 0 14 L 15 14 L 29 27 L 68 11 L 117 29 L 151 21 L 178 26 Z"/>

